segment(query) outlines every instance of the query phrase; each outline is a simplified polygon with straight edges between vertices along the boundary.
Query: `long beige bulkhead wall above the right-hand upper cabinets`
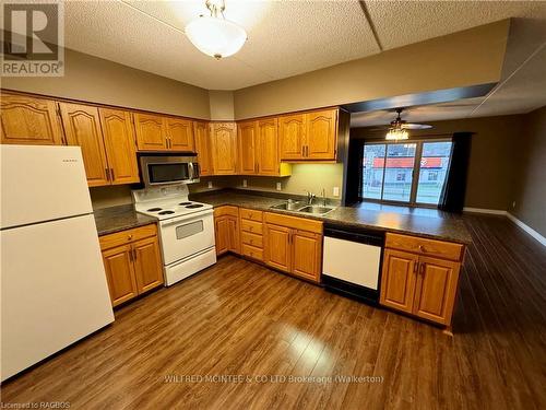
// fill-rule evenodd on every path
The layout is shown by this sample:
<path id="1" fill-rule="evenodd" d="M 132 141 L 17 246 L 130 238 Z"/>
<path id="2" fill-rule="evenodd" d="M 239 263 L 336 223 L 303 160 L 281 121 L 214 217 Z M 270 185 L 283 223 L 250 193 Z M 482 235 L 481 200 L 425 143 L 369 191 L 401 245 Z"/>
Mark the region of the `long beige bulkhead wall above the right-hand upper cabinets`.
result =
<path id="1" fill-rule="evenodd" d="M 236 119 L 500 79 L 509 21 L 235 91 Z"/>

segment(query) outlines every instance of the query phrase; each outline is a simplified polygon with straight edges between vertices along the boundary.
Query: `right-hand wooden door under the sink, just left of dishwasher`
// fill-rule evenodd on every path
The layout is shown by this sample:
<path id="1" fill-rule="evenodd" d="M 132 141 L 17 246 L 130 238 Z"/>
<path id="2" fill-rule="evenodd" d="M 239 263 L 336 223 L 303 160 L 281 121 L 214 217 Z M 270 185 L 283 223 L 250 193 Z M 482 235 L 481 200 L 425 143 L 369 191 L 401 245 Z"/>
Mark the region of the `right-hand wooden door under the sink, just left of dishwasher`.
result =
<path id="1" fill-rule="evenodd" d="M 292 273 L 318 282 L 322 256 L 322 236 L 311 232 L 295 231 L 292 236 Z"/>

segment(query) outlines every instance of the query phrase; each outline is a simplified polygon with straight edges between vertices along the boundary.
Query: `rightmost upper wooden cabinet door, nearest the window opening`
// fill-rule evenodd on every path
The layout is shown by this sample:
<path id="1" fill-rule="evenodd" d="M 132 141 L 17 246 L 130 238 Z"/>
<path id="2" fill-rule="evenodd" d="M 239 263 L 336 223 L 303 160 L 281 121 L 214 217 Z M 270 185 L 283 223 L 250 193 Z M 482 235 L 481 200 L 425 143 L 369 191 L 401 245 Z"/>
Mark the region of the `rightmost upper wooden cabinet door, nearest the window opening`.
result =
<path id="1" fill-rule="evenodd" d="M 335 160 L 337 110 L 308 113 L 306 117 L 306 159 Z"/>

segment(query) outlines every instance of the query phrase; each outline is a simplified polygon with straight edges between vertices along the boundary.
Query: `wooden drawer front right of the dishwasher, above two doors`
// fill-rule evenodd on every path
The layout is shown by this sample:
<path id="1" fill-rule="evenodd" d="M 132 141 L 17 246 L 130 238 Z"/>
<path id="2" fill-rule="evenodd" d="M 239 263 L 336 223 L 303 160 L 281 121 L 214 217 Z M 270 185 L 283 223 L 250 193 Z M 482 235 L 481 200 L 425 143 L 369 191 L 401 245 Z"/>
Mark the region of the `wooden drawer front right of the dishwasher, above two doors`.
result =
<path id="1" fill-rule="evenodd" d="M 391 233 L 387 234 L 385 247 L 451 260 L 461 260 L 464 248 L 463 245 L 453 244 L 451 242 L 426 239 L 422 237 Z"/>

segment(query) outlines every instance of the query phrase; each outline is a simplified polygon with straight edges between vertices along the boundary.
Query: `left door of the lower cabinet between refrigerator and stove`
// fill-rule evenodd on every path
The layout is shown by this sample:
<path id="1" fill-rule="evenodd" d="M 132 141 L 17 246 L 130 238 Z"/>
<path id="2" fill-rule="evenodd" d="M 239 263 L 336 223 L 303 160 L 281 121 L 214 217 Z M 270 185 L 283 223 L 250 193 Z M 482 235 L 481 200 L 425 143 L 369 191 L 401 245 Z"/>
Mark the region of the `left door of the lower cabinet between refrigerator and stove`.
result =
<path id="1" fill-rule="evenodd" d="M 139 294 L 131 251 L 131 245 L 118 246 L 103 251 L 106 279 L 114 306 Z"/>

